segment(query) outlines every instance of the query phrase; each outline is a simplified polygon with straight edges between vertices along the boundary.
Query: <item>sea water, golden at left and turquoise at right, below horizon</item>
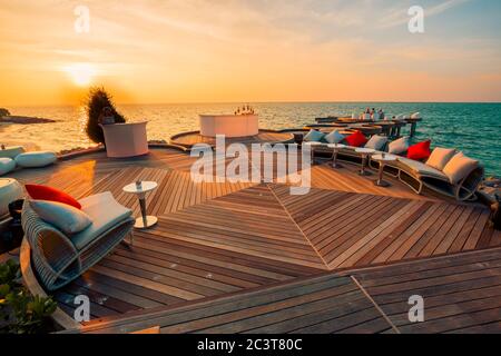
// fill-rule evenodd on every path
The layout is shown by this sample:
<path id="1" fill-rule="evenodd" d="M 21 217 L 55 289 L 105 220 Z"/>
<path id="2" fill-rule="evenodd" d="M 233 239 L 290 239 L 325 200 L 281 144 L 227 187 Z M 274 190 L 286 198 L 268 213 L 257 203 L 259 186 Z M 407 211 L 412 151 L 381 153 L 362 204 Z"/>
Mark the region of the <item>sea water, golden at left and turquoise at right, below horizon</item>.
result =
<path id="1" fill-rule="evenodd" d="M 383 108 L 387 115 L 421 112 L 415 140 L 431 139 L 432 146 L 453 147 L 482 161 L 488 175 L 501 176 L 501 103 L 392 103 L 392 102 L 271 102 L 250 103 L 259 115 L 261 128 L 302 128 L 316 117 L 362 112 Z M 148 139 L 167 140 L 183 131 L 198 129 L 199 113 L 234 112 L 236 103 L 179 103 L 118 106 L 130 121 L 148 120 Z M 62 150 L 89 147 L 85 112 L 79 107 L 16 107 L 12 115 L 53 119 L 53 123 L 0 123 L 0 144 L 24 145 L 29 149 Z M 409 127 L 407 129 L 409 130 Z M 405 134 L 405 130 L 404 130 Z"/>

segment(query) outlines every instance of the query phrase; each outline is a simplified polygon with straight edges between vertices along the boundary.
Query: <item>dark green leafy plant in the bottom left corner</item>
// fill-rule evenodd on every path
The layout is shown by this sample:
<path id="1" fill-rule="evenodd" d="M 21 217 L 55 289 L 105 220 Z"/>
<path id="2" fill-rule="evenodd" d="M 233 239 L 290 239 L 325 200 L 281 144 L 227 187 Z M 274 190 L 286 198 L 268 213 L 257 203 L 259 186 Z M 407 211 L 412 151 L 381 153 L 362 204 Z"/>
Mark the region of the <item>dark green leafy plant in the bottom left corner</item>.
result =
<path id="1" fill-rule="evenodd" d="M 50 316 L 56 312 L 56 301 L 32 296 L 20 279 L 18 263 L 8 260 L 0 265 L 0 334 L 53 330 Z"/>

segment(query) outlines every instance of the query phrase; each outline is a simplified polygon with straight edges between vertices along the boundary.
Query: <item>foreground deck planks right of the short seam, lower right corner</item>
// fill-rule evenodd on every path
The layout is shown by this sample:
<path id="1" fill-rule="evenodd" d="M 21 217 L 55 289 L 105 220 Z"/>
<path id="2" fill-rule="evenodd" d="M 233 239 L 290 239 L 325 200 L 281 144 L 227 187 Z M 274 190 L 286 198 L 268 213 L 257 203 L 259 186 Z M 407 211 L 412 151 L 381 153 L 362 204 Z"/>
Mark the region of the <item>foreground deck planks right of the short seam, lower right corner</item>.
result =
<path id="1" fill-rule="evenodd" d="M 501 333 L 500 248 L 350 274 L 402 333 Z M 424 323 L 409 320 L 412 295 Z"/>

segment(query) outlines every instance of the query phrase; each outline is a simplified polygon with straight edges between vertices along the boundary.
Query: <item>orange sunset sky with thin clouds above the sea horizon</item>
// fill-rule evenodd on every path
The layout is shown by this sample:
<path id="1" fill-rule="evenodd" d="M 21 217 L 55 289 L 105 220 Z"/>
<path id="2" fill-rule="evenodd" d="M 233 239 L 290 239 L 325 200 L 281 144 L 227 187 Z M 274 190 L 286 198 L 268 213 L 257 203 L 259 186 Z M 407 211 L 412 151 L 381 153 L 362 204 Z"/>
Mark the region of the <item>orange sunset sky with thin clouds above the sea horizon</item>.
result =
<path id="1" fill-rule="evenodd" d="M 92 85 L 122 103 L 501 101 L 499 0 L 0 0 L 0 107 Z"/>

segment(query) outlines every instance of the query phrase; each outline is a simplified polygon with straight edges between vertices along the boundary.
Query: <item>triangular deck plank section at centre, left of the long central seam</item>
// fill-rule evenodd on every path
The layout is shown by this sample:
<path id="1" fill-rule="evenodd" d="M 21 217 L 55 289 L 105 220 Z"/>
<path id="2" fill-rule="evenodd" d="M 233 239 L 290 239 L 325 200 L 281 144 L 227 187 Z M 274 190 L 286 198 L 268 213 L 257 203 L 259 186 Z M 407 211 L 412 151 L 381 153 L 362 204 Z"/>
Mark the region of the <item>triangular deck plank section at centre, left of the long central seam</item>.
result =
<path id="1" fill-rule="evenodd" d="M 169 237 L 247 255 L 325 268 L 266 185 L 163 217 Z M 161 230 L 161 228 L 160 228 Z"/>

